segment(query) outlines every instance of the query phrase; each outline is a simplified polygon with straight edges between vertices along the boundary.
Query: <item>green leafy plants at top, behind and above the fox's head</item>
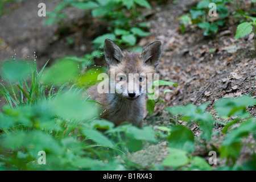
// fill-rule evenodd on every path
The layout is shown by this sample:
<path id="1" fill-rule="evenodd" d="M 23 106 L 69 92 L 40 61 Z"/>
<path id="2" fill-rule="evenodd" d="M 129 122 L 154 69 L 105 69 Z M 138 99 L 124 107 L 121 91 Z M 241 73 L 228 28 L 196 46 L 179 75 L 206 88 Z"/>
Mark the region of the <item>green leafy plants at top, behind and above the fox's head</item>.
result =
<path id="1" fill-rule="evenodd" d="M 59 22 L 67 15 L 62 13 L 67 7 L 77 7 L 81 10 L 90 10 L 93 18 L 108 21 L 108 33 L 98 36 L 93 40 L 96 47 L 102 47 L 105 39 L 111 39 L 117 44 L 124 46 L 134 46 L 138 37 L 149 35 L 144 31 L 149 24 L 143 22 L 141 7 L 151 9 L 146 0 L 95 0 L 95 1 L 77 1 L 64 0 L 55 10 L 48 13 L 50 17 L 46 24 Z"/>

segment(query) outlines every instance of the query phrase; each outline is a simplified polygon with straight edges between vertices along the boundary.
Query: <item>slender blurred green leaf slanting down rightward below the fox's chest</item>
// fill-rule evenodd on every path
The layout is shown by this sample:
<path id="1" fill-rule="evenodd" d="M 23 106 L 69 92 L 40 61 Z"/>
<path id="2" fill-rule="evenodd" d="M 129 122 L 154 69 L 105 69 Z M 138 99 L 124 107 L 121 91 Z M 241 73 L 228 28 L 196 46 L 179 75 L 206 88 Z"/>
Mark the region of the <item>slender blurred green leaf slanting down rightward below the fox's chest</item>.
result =
<path id="1" fill-rule="evenodd" d="M 104 147 L 115 148 L 114 143 L 109 138 L 105 137 L 100 131 L 92 130 L 92 129 L 84 129 L 82 133 L 93 140 L 94 142 L 101 144 Z"/>

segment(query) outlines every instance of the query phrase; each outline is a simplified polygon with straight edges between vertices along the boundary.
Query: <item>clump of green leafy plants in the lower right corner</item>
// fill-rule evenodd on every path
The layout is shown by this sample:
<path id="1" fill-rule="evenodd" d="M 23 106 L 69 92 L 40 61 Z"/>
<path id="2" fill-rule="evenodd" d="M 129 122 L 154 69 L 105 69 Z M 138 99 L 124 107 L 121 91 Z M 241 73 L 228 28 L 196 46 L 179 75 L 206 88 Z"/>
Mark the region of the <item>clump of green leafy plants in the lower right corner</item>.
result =
<path id="1" fill-rule="evenodd" d="M 170 133 L 167 137 L 170 155 L 164 159 L 162 165 L 174 169 L 212 170 L 203 158 L 191 154 L 195 151 L 196 140 L 194 134 L 188 127 L 196 122 L 202 132 L 200 138 L 206 141 L 205 144 L 213 143 L 212 136 L 218 135 L 220 132 L 215 131 L 213 133 L 213 124 L 215 122 L 224 125 L 222 133 L 226 134 L 226 136 L 219 148 L 213 147 L 207 149 L 205 146 L 205 150 L 208 150 L 208 152 L 213 150 L 220 154 L 221 159 L 226 159 L 226 164 L 219 166 L 218 169 L 255 170 L 255 153 L 251 156 L 249 162 L 242 164 L 236 163 L 237 158 L 241 154 L 242 146 L 253 145 L 253 143 L 243 143 L 242 138 L 252 136 L 256 139 L 256 118 L 251 117 L 250 113 L 246 111 L 247 107 L 256 105 L 255 98 L 249 96 L 222 98 L 214 105 L 214 109 L 217 112 L 215 116 L 205 111 L 207 105 L 205 103 L 200 106 L 189 104 L 186 106 L 166 107 L 166 110 L 171 114 L 181 115 L 179 119 L 187 122 L 187 126 L 159 127 L 159 130 Z M 225 122 L 217 121 L 215 118 L 222 118 Z M 240 122 L 242 122 L 241 125 L 234 127 L 235 124 Z M 251 150 L 254 150 L 253 147 L 251 147 Z"/>

